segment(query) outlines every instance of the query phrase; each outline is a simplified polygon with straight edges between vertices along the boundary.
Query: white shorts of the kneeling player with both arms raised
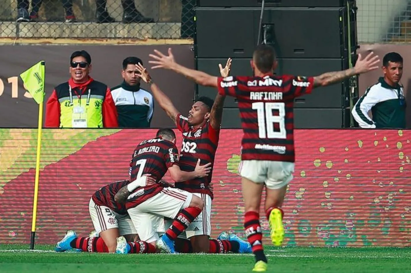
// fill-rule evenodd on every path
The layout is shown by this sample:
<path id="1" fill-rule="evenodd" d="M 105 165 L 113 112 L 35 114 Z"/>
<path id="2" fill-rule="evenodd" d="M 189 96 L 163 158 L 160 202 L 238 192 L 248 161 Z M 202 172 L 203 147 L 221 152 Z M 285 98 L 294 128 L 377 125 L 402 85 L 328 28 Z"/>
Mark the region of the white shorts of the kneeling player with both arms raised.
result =
<path id="1" fill-rule="evenodd" d="M 187 227 L 185 232 L 180 234 L 178 238 L 189 239 L 198 235 L 211 235 L 211 197 L 204 193 L 193 193 L 201 198 L 204 202 L 203 211 L 197 216 L 194 221 Z M 173 220 L 166 220 L 166 227 L 170 227 Z"/>

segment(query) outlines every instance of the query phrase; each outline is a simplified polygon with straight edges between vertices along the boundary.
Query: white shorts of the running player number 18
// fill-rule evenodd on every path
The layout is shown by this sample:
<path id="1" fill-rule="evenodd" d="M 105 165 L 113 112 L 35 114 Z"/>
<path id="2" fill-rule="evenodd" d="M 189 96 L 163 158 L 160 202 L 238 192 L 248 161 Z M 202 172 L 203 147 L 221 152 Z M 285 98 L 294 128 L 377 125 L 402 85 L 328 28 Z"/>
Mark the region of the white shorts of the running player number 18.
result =
<path id="1" fill-rule="evenodd" d="M 293 179 L 294 165 L 293 162 L 285 161 L 242 160 L 238 171 L 241 177 L 277 190 Z"/>

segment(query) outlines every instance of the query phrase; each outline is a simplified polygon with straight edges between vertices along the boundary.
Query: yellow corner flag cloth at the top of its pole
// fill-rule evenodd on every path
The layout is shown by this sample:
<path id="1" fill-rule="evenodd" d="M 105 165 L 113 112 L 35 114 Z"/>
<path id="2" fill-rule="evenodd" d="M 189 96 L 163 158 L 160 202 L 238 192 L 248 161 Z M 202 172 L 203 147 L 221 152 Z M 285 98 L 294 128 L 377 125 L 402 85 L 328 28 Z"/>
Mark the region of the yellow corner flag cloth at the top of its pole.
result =
<path id="1" fill-rule="evenodd" d="M 44 101 L 44 66 L 45 62 L 40 61 L 20 74 L 24 87 L 38 103 Z"/>

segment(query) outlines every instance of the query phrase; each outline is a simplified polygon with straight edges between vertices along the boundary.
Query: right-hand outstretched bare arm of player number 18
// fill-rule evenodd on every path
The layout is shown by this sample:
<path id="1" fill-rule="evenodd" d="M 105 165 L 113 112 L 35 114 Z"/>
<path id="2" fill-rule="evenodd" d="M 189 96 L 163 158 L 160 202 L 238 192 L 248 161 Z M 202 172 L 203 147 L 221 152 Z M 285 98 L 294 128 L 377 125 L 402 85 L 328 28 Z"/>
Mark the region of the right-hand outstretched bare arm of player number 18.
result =
<path id="1" fill-rule="evenodd" d="M 373 52 L 365 56 L 364 59 L 361 58 L 361 54 L 358 54 L 358 60 L 355 67 L 343 71 L 327 72 L 320 76 L 316 76 L 314 77 L 314 87 L 332 85 L 346 80 L 354 75 L 363 74 L 378 69 L 379 62 L 380 60 L 378 55 L 374 55 Z"/>

